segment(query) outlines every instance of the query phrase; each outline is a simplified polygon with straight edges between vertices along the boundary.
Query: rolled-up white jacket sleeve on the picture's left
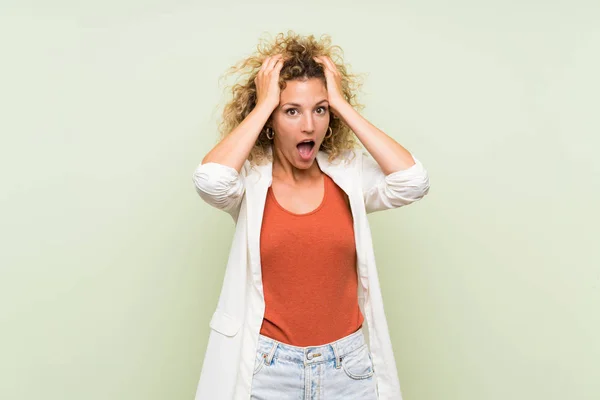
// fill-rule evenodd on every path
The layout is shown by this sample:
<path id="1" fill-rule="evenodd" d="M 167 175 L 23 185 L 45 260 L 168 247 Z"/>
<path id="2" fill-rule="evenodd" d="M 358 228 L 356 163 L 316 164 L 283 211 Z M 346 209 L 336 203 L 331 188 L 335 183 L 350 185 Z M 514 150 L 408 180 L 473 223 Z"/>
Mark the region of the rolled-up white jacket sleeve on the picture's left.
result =
<path id="1" fill-rule="evenodd" d="M 237 220 L 245 192 L 242 174 L 235 168 L 209 162 L 196 168 L 193 180 L 196 192 L 205 202 Z"/>

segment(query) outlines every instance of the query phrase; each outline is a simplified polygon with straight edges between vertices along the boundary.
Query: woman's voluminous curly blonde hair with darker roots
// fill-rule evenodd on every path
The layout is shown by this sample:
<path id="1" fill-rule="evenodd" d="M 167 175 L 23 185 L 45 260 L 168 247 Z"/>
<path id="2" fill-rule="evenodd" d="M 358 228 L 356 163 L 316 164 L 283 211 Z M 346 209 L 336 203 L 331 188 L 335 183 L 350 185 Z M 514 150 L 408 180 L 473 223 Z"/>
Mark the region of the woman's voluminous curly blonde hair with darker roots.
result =
<path id="1" fill-rule="evenodd" d="M 364 108 L 356 98 L 356 92 L 362 86 L 362 78 L 348 71 L 348 65 L 343 62 L 343 50 L 339 46 L 331 45 L 331 37 L 322 35 L 316 39 L 313 35 L 301 36 L 294 31 L 288 31 L 287 35 L 277 34 L 274 40 L 260 39 L 256 52 L 228 68 L 221 76 L 220 81 L 232 74 L 239 78 L 228 87 L 232 98 L 223 108 L 219 123 L 220 139 L 226 137 L 237 127 L 256 106 L 254 78 L 263 61 L 276 54 L 283 54 L 286 60 L 279 75 L 281 90 L 285 89 L 286 81 L 289 80 L 319 78 L 326 83 L 323 67 L 314 61 L 313 57 L 328 56 L 342 76 L 342 93 L 346 101 L 357 110 Z M 271 141 L 267 138 L 265 131 L 268 122 L 250 151 L 248 160 L 252 165 L 272 161 L 272 155 L 269 156 L 268 152 Z M 328 154 L 329 160 L 332 161 L 345 150 L 356 148 L 358 143 L 354 132 L 335 113 L 331 113 L 329 126 L 333 133 L 324 139 L 319 150 Z"/>

